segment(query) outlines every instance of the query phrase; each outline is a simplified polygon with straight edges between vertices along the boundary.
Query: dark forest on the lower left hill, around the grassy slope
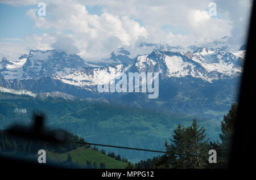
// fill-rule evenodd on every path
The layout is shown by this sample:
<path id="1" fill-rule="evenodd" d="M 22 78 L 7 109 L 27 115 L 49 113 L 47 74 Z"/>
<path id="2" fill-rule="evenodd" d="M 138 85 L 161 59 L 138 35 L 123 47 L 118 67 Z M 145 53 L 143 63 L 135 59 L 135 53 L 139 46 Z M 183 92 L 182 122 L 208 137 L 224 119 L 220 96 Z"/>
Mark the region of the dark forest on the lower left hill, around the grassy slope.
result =
<path id="1" fill-rule="evenodd" d="M 88 169 L 105 169 L 105 168 L 115 168 L 111 164 L 118 164 L 117 161 L 123 162 L 121 165 L 117 165 L 117 168 L 124 168 L 126 163 L 128 163 L 127 158 L 121 157 L 121 155 L 115 155 L 114 152 L 109 152 L 106 154 L 104 149 L 99 150 L 97 147 L 90 147 L 86 144 L 84 139 L 80 138 L 77 135 L 73 135 L 65 130 L 57 130 L 64 132 L 67 135 L 67 143 L 52 143 L 52 142 L 42 142 L 38 140 L 30 140 L 17 136 L 11 136 L 7 134 L 6 130 L 0 130 L 0 155 L 11 156 L 11 157 L 23 157 L 25 160 L 37 160 L 37 153 L 39 149 L 44 149 L 47 151 L 47 154 L 50 158 L 47 159 L 47 162 L 53 163 L 56 166 L 69 167 L 69 168 L 88 168 Z M 70 143 L 78 142 L 78 143 Z M 86 160 L 84 162 L 78 162 L 73 159 L 73 156 L 76 156 L 74 151 L 79 151 L 83 153 L 84 158 L 86 156 L 92 156 L 94 161 Z M 90 155 L 86 153 L 90 152 Z M 102 162 L 98 161 L 97 158 L 93 156 L 98 156 L 99 153 L 103 155 L 101 158 Z M 67 158 L 60 156 L 56 160 L 55 156 L 67 155 Z M 48 156 L 47 155 L 47 156 Z M 113 160 L 111 161 L 110 158 Z M 61 159 L 61 160 L 60 160 Z M 106 167 L 105 161 L 110 161 L 110 165 Z"/>

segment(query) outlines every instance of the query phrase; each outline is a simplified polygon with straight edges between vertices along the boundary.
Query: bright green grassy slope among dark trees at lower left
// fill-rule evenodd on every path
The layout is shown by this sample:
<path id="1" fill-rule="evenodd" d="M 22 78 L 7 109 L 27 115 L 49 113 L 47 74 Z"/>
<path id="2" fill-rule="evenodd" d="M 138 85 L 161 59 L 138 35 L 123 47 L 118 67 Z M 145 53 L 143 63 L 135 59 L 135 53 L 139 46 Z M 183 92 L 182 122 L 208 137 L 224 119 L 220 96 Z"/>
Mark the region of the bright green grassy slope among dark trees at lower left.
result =
<path id="1" fill-rule="evenodd" d="M 73 151 L 65 152 L 65 153 L 54 153 L 47 152 L 46 157 L 51 160 L 55 160 L 56 162 L 66 162 L 68 160 L 68 154 L 71 154 L 72 161 L 78 162 L 79 165 L 86 165 L 86 161 L 96 162 L 97 166 L 100 166 L 101 162 L 105 163 L 106 168 L 125 168 L 127 163 L 115 160 L 114 158 L 108 157 L 106 155 L 102 155 L 101 152 L 94 151 L 90 148 L 79 147 Z"/>

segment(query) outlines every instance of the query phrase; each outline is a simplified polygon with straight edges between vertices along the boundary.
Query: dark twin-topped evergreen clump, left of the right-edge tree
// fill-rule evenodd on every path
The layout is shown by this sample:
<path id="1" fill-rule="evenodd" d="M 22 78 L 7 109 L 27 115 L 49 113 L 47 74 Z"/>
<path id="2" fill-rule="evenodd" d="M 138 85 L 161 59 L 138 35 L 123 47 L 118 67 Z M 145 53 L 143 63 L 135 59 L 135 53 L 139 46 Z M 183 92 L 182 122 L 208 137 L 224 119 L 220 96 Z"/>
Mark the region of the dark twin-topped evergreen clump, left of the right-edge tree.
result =
<path id="1" fill-rule="evenodd" d="M 199 156 L 207 155 L 208 140 L 205 138 L 205 129 L 197 126 L 196 119 L 193 119 L 190 127 L 178 125 L 170 139 L 171 144 L 165 143 L 167 154 L 160 158 L 156 165 L 165 168 L 204 168 L 205 160 Z"/>

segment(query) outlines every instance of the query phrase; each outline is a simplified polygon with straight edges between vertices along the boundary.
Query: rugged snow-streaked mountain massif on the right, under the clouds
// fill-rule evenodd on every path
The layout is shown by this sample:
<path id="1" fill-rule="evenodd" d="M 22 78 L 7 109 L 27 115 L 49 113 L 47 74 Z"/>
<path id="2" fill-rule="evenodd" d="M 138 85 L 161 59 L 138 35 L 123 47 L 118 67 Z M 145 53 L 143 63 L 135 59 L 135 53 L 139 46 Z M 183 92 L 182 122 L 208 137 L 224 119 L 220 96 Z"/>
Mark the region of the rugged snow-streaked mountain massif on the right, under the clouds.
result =
<path id="1" fill-rule="evenodd" d="M 242 72 L 241 57 L 221 49 L 199 48 L 193 53 L 154 51 L 139 55 L 135 68 L 139 71 L 161 72 L 166 77 L 192 76 L 208 82 Z"/>

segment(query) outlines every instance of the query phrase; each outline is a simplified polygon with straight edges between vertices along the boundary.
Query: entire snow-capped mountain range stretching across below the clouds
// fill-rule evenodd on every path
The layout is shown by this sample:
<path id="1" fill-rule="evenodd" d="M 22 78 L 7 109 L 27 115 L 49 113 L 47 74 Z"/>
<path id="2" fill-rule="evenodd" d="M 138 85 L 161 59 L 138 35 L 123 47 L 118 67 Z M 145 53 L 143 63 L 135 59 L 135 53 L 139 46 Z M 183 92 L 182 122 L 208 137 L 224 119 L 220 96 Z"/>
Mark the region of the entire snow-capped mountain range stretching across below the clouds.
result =
<path id="1" fill-rule="evenodd" d="M 102 83 L 104 76 L 113 71 L 117 75 L 127 72 L 159 72 L 162 78 L 191 76 L 207 82 L 241 75 L 244 50 L 181 50 L 180 47 L 168 45 L 142 44 L 141 52 L 150 53 L 133 57 L 133 53 L 120 48 L 110 53 L 109 58 L 92 62 L 59 50 L 33 49 L 15 61 L 2 58 L 0 78 L 11 83 L 13 80 L 24 82 L 49 77 L 92 91 L 95 90 L 93 87 Z"/>

